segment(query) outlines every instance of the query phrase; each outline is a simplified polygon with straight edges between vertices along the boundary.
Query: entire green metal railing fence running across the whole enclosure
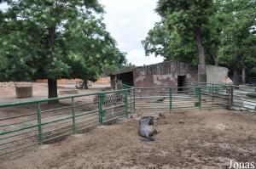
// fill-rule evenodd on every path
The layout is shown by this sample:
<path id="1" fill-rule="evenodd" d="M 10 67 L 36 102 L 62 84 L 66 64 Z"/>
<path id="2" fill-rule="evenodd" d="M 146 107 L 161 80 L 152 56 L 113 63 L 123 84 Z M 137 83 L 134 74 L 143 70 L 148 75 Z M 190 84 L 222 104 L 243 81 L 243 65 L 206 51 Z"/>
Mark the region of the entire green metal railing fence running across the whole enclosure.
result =
<path id="1" fill-rule="evenodd" d="M 0 104 L 0 156 L 84 132 L 139 110 L 256 110 L 255 87 L 200 83 L 190 87 L 122 87 L 104 93 Z M 56 100 L 59 103 L 52 104 Z"/>

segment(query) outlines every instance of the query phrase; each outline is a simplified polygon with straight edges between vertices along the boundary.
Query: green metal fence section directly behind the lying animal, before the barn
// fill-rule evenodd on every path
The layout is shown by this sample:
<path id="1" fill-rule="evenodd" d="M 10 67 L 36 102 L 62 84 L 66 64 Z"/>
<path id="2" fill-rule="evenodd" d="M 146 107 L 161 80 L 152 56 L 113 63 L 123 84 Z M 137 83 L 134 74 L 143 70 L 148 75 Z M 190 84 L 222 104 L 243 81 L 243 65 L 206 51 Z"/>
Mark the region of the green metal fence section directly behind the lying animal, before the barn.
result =
<path id="1" fill-rule="evenodd" d="M 227 87 L 139 87 L 135 88 L 137 110 L 191 110 L 227 108 Z"/>

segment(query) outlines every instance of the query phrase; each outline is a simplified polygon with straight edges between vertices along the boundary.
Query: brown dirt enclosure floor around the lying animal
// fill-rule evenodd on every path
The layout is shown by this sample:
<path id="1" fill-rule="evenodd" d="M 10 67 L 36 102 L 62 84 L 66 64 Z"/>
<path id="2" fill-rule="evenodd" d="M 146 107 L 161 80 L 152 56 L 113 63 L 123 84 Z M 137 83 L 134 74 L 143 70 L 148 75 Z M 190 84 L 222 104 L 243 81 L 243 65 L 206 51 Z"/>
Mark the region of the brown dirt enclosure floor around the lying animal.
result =
<path id="1" fill-rule="evenodd" d="M 155 142 L 137 135 L 137 117 L 0 159 L 0 168 L 227 168 L 256 162 L 256 114 L 201 110 L 155 121 Z"/>

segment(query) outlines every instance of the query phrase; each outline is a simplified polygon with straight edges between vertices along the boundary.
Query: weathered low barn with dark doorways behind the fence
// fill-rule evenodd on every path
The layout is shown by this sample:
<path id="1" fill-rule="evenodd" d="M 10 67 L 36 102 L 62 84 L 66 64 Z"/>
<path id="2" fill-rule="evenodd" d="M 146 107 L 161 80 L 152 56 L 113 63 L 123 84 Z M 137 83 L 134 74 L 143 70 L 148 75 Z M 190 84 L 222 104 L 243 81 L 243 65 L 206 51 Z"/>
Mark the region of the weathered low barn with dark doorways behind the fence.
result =
<path id="1" fill-rule="evenodd" d="M 228 78 L 227 75 L 227 68 L 207 65 L 207 82 L 224 83 Z M 165 61 L 115 71 L 109 76 L 112 88 L 117 88 L 119 82 L 134 87 L 185 87 L 187 82 L 198 82 L 198 66 Z"/>

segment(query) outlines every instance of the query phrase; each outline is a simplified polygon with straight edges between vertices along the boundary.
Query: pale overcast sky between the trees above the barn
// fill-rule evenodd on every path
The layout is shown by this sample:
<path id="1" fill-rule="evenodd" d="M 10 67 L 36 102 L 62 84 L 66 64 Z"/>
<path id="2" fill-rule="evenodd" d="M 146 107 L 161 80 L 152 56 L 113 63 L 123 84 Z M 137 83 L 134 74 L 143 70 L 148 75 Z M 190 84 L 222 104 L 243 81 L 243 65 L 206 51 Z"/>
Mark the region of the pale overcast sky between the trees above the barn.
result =
<path id="1" fill-rule="evenodd" d="M 154 12 L 157 0 L 100 0 L 105 6 L 107 30 L 118 42 L 122 52 L 127 53 L 133 65 L 160 63 L 163 58 L 154 54 L 145 56 L 141 41 L 160 17 Z"/>

